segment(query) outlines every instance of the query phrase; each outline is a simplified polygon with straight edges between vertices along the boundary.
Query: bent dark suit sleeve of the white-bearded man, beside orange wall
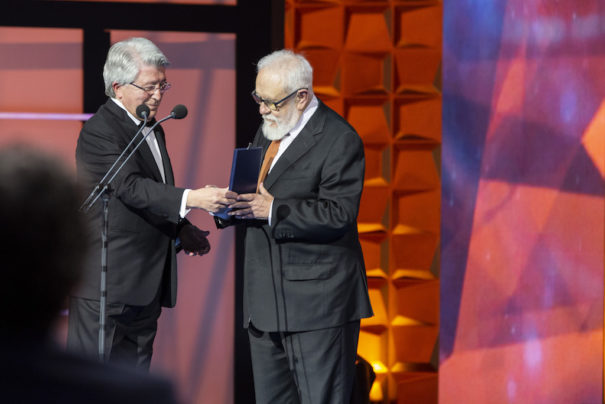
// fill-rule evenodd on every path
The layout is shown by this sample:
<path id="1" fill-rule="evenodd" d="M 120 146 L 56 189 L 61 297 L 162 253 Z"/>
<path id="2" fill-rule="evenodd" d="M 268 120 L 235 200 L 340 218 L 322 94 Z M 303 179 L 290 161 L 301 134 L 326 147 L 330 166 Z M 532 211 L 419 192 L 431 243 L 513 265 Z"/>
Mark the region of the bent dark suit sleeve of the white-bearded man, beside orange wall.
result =
<path id="1" fill-rule="evenodd" d="M 350 128 L 326 136 L 334 141 L 315 145 L 322 149 L 324 159 L 315 162 L 321 167 L 317 197 L 275 197 L 272 217 L 277 240 L 329 242 L 357 226 L 365 171 L 363 143 Z"/>

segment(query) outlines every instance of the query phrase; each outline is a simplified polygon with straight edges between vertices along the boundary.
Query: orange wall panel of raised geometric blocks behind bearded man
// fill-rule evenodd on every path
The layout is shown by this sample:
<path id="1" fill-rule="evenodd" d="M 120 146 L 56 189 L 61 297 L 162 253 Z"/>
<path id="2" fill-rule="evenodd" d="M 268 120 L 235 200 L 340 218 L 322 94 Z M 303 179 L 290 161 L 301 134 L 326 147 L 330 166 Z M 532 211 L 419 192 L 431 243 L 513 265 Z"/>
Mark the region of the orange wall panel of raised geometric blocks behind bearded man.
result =
<path id="1" fill-rule="evenodd" d="M 437 402 L 441 20 L 437 1 L 286 1 L 285 46 L 365 144 L 359 232 L 373 402 Z"/>

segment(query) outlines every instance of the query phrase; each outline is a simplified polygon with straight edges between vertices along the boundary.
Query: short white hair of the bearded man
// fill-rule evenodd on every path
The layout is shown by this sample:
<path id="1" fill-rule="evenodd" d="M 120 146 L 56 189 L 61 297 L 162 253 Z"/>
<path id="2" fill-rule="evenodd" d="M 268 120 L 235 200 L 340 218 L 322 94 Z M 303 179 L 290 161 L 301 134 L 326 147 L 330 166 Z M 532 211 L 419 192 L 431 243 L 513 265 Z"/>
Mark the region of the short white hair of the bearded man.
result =
<path id="1" fill-rule="evenodd" d="M 256 65 L 257 73 L 263 69 L 276 69 L 283 75 L 284 90 L 291 93 L 299 88 L 313 92 L 313 67 L 300 54 L 289 49 L 277 50 L 261 58 Z"/>

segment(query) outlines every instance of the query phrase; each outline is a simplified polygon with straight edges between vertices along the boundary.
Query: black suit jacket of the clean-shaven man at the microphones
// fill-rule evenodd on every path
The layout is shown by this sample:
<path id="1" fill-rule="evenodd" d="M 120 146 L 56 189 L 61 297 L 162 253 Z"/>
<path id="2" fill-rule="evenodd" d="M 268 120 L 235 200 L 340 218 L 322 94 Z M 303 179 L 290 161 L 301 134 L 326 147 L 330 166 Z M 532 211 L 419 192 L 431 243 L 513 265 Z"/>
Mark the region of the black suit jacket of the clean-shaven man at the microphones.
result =
<path id="1" fill-rule="evenodd" d="M 84 124 L 76 148 L 76 165 L 78 178 L 87 192 L 103 177 L 137 130 L 126 111 L 111 99 Z M 173 307 L 176 303 L 174 240 L 182 222 L 179 209 L 184 189 L 174 187 L 164 131 L 159 125 L 155 135 L 166 183 L 144 141 L 111 184 L 108 303 L 146 305 L 157 293 L 162 294 L 163 306 Z M 138 140 L 134 144 L 137 143 Z M 88 212 L 91 245 L 83 282 L 74 294 L 78 297 L 99 299 L 102 212 L 99 198 Z"/>

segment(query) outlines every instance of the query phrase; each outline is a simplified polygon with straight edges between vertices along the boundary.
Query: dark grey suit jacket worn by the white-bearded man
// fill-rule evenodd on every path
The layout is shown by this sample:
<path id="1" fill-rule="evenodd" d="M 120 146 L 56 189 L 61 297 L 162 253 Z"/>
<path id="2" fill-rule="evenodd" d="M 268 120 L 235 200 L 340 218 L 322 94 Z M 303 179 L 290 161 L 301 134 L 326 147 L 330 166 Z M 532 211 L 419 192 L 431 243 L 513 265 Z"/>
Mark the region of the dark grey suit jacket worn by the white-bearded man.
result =
<path id="1" fill-rule="evenodd" d="M 269 144 L 259 128 L 253 145 Z M 244 326 L 305 331 L 372 316 L 357 233 L 364 170 L 359 135 L 320 102 L 264 181 L 272 225 L 245 221 Z"/>

